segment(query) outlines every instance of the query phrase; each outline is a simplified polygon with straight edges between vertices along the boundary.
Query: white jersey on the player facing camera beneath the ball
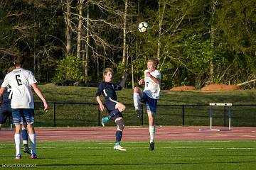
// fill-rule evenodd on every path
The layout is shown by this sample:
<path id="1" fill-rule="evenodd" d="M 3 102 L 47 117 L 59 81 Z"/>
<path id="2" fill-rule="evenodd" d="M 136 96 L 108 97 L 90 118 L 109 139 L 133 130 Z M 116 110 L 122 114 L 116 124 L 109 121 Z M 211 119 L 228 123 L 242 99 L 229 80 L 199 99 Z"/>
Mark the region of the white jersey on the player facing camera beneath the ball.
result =
<path id="1" fill-rule="evenodd" d="M 150 98 L 159 99 L 160 85 L 156 84 L 150 77 L 146 77 L 146 72 L 149 72 L 148 69 L 144 71 L 144 81 L 145 88 L 144 93 Z M 161 80 L 161 73 L 158 70 L 150 73 L 156 79 Z M 160 82 L 159 82 L 160 83 Z"/>

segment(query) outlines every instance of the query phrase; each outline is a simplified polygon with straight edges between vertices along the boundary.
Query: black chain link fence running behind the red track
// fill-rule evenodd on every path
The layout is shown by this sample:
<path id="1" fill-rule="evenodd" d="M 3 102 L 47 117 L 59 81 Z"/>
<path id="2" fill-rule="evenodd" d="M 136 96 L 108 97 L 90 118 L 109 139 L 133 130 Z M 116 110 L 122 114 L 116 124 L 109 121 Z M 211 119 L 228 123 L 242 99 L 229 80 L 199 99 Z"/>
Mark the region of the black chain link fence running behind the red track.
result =
<path id="1" fill-rule="evenodd" d="M 146 106 L 137 118 L 134 106 L 126 105 L 124 124 L 148 125 Z M 256 126 L 256 106 L 231 106 L 231 126 Z M 210 106 L 207 105 L 158 105 L 156 125 L 210 125 Z M 100 126 L 107 112 L 100 112 L 97 103 L 49 103 L 48 112 L 43 103 L 35 103 L 36 127 Z M 213 126 L 228 126 L 228 107 L 212 107 Z M 114 125 L 114 121 L 107 123 Z"/>

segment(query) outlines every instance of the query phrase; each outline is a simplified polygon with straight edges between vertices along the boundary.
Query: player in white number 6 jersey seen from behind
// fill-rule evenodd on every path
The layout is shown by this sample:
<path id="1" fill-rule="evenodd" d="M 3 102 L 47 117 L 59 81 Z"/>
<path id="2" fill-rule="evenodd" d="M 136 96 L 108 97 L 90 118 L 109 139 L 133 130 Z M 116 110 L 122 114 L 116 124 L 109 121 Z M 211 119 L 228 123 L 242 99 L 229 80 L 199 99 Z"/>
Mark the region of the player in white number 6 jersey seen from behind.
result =
<path id="1" fill-rule="evenodd" d="M 7 86 L 11 86 L 13 96 L 11 98 L 12 117 L 15 125 L 16 159 L 21 159 L 21 125 L 26 122 L 29 139 L 31 140 L 31 159 L 36 159 L 36 133 L 34 123 L 34 103 L 31 86 L 39 98 L 43 101 L 45 111 L 48 109 L 46 99 L 38 89 L 37 81 L 31 71 L 23 69 L 24 59 L 22 56 L 15 57 L 15 69 L 6 74 L 1 84 L 0 97 Z"/>

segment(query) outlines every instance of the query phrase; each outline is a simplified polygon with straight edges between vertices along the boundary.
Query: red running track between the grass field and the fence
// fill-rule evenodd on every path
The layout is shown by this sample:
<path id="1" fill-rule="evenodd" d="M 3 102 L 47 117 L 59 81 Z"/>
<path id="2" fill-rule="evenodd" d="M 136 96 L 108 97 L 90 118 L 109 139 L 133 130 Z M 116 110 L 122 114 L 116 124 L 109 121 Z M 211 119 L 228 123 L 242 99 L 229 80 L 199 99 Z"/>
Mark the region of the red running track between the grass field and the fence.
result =
<path id="1" fill-rule="evenodd" d="M 196 126 L 163 126 L 156 127 L 155 140 L 256 140 L 256 127 L 226 127 L 223 131 L 199 130 L 209 127 Z M 36 128 L 39 141 L 114 141 L 115 127 L 92 128 Z M 148 141 L 148 127 L 125 127 L 122 141 Z M 0 131 L 0 142 L 13 142 L 14 130 Z"/>

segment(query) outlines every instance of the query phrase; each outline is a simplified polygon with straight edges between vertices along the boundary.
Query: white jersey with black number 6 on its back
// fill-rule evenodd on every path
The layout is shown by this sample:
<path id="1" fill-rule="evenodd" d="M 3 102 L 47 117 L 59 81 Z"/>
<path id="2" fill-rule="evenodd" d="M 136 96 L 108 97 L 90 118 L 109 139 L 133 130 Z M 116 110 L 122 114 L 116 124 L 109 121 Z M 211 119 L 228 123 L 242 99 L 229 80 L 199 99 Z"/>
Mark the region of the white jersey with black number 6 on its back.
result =
<path id="1" fill-rule="evenodd" d="M 37 83 L 33 73 L 26 69 L 14 69 L 6 74 L 2 87 L 11 86 L 11 108 L 34 108 L 31 84 Z"/>

